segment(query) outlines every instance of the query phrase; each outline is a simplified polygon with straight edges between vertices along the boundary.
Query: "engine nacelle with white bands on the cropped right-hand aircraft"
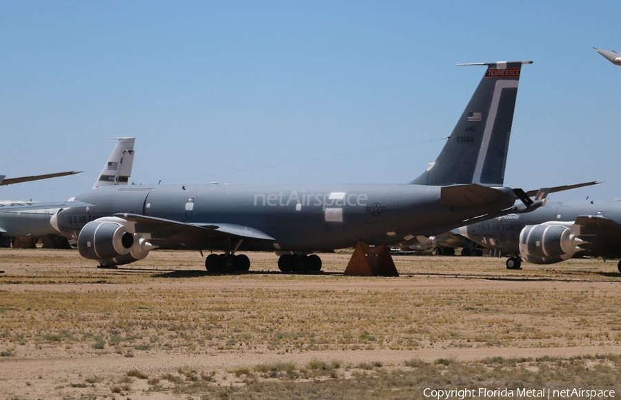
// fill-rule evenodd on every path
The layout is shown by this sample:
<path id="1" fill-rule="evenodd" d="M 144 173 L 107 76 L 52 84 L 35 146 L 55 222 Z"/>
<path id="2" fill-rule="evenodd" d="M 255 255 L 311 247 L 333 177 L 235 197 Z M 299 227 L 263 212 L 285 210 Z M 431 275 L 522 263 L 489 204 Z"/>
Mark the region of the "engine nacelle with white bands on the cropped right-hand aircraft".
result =
<path id="1" fill-rule="evenodd" d="M 520 256 L 535 264 L 551 264 L 571 259 L 584 241 L 573 232 L 575 226 L 541 224 L 524 226 L 520 232 Z"/>

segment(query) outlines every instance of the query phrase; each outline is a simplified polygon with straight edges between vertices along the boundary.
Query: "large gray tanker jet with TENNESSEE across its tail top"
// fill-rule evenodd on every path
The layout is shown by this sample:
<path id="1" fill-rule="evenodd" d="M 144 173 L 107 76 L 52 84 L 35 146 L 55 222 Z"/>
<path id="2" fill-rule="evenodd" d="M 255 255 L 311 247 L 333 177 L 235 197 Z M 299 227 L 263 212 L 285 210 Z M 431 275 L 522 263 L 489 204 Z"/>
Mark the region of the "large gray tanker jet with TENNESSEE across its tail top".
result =
<path id="1" fill-rule="evenodd" d="M 60 210 L 52 225 L 100 266 L 155 248 L 221 250 L 206 257 L 208 271 L 247 271 L 238 252 L 271 250 L 283 272 L 308 272 L 321 269 L 312 252 L 404 247 L 417 235 L 534 210 L 545 200 L 502 186 L 517 83 L 531 62 L 462 64 L 486 66 L 484 77 L 440 155 L 407 184 L 108 186 L 77 195 L 91 206 Z"/>

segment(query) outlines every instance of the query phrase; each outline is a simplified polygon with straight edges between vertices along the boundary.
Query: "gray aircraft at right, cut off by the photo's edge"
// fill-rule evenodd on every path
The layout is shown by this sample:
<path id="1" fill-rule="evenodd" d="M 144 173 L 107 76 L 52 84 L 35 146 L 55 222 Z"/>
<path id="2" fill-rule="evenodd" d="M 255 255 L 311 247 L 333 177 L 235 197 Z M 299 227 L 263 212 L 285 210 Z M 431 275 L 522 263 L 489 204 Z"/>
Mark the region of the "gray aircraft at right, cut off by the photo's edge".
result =
<path id="1" fill-rule="evenodd" d="M 529 214 L 509 214 L 473 223 L 460 232 L 482 246 L 509 256 L 506 267 L 522 259 L 551 264 L 586 256 L 621 257 L 621 201 L 549 202 Z M 521 257 L 521 258 L 520 258 Z M 621 261 L 618 263 L 621 272 Z"/>

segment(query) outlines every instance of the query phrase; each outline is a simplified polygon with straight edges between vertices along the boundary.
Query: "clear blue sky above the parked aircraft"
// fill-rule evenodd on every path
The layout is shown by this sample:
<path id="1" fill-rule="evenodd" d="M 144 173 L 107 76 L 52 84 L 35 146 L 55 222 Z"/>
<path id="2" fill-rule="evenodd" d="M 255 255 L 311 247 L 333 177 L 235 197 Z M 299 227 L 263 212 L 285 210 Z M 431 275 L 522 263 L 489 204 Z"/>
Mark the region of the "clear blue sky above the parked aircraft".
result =
<path id="1" fill-rule="evenodd" d="M 505 185 L 599 180 L 550 198 L 619 198 L 621 68 L 593 46 L 621 52 L 620 16 L 620 1 L 2 0 L 0 174 L 84 172 L 0 199 L 90 189 L 121 136 L 136 183 L 405 183 L 484 73 L 455 64 L 514 60 L 534 63 Z"/>

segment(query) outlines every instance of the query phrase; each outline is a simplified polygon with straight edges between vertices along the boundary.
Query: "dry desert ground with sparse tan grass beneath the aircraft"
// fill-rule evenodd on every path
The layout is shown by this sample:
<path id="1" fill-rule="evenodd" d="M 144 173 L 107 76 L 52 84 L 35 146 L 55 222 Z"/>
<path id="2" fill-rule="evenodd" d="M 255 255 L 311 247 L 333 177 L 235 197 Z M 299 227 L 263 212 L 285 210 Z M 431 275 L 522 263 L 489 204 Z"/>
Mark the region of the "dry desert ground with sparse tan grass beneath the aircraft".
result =
<path id="1" fill-rule="evenodd" d="M 0 396 L 620 395 L 616 261 L 506 270 L 493 257 L 405 255 L 394 257 L 400 277 L 344 277 L 350 256 L 322 254 L 322 273 L 295 275 L 255 252 L 249 273 L 213 275 L 199 252 L 153 251 L 110 270 L 77 250 L 1 248 Z"/>

